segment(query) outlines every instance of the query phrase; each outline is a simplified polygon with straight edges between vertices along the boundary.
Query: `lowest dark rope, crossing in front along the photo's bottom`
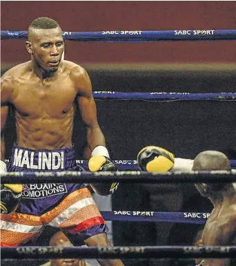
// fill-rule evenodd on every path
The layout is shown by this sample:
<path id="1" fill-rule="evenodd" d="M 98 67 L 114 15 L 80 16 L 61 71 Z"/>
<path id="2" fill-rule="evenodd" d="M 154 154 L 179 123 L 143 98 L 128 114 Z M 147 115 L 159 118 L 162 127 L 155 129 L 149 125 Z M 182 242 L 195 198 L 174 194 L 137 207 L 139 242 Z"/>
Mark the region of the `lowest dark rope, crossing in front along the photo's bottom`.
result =
<path id="1" fill-rule="evenodd" d="M 236 258 L 236 246 L 1 247 L 1 259 Z"/>

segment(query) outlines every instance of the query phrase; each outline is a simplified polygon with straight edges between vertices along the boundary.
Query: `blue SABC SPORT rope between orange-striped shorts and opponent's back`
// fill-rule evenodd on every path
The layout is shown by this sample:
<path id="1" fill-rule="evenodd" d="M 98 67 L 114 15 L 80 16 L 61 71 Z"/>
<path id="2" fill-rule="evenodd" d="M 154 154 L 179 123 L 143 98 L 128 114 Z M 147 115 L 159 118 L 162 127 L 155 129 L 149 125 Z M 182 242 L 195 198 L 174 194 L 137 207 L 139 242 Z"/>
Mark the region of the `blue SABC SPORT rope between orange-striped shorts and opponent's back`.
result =
<path id="1" fill-rule="evenodd" d="M 210 213 L 157 211 L 100 211 L 104 220 L 127 222 L 179 222 L 205 224 Z"/>

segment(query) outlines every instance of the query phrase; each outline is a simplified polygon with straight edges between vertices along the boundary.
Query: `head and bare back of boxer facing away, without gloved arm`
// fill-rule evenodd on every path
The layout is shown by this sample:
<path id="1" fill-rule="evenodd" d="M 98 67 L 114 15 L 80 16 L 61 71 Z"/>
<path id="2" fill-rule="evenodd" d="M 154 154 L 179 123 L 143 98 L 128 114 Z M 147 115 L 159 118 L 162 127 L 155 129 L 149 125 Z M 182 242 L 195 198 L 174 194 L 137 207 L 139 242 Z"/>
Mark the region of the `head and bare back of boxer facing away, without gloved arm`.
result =
<path id="1" fill-rule="evenodd" d="M 230 161 L 219 151 L 199 153 L 193 162 L 193 171 L 226 170 L 230 171 Z M 201 196 L 209 198 L 214 209 L 210 213 L 201 234 L 199 245 L 236 245 L 236 193 L 233 183 L 200 183 L 195 184 Z M 199 263 L 199 262 L 197 262 Z M 229 259 L 204 260 L 199 265 L 233 266 Z"/>

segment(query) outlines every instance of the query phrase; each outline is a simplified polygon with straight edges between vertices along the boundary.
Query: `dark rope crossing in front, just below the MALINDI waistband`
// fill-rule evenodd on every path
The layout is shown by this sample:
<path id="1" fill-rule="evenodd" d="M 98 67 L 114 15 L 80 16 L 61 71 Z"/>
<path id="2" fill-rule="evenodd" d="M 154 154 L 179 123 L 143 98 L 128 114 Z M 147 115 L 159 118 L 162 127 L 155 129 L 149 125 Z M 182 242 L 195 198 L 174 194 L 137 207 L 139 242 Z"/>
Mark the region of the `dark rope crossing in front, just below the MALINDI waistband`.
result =
<path id="1" fill-rule="evenodd" d="M 181 171 L 148 173 L 143 171 L 35 171 L 1 173 L 1 182 L 9 184 L 25 183 L 196 183 L 235 182 L 236 173 L 231 171 Z"/>

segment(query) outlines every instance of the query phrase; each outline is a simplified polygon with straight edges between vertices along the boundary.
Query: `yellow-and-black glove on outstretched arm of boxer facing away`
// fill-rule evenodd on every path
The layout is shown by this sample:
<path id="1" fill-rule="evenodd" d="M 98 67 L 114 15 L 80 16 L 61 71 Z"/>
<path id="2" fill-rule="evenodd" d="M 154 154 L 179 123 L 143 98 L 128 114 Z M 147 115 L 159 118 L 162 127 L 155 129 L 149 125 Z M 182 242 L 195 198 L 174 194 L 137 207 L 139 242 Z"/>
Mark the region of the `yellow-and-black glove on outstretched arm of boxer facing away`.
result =
<path id="1" fill-rule="evenodd" d="M 166 172 L 173 168 L 175 155 L 158 146 L 146 146 L 137 155 L 141 171 Z"/>

